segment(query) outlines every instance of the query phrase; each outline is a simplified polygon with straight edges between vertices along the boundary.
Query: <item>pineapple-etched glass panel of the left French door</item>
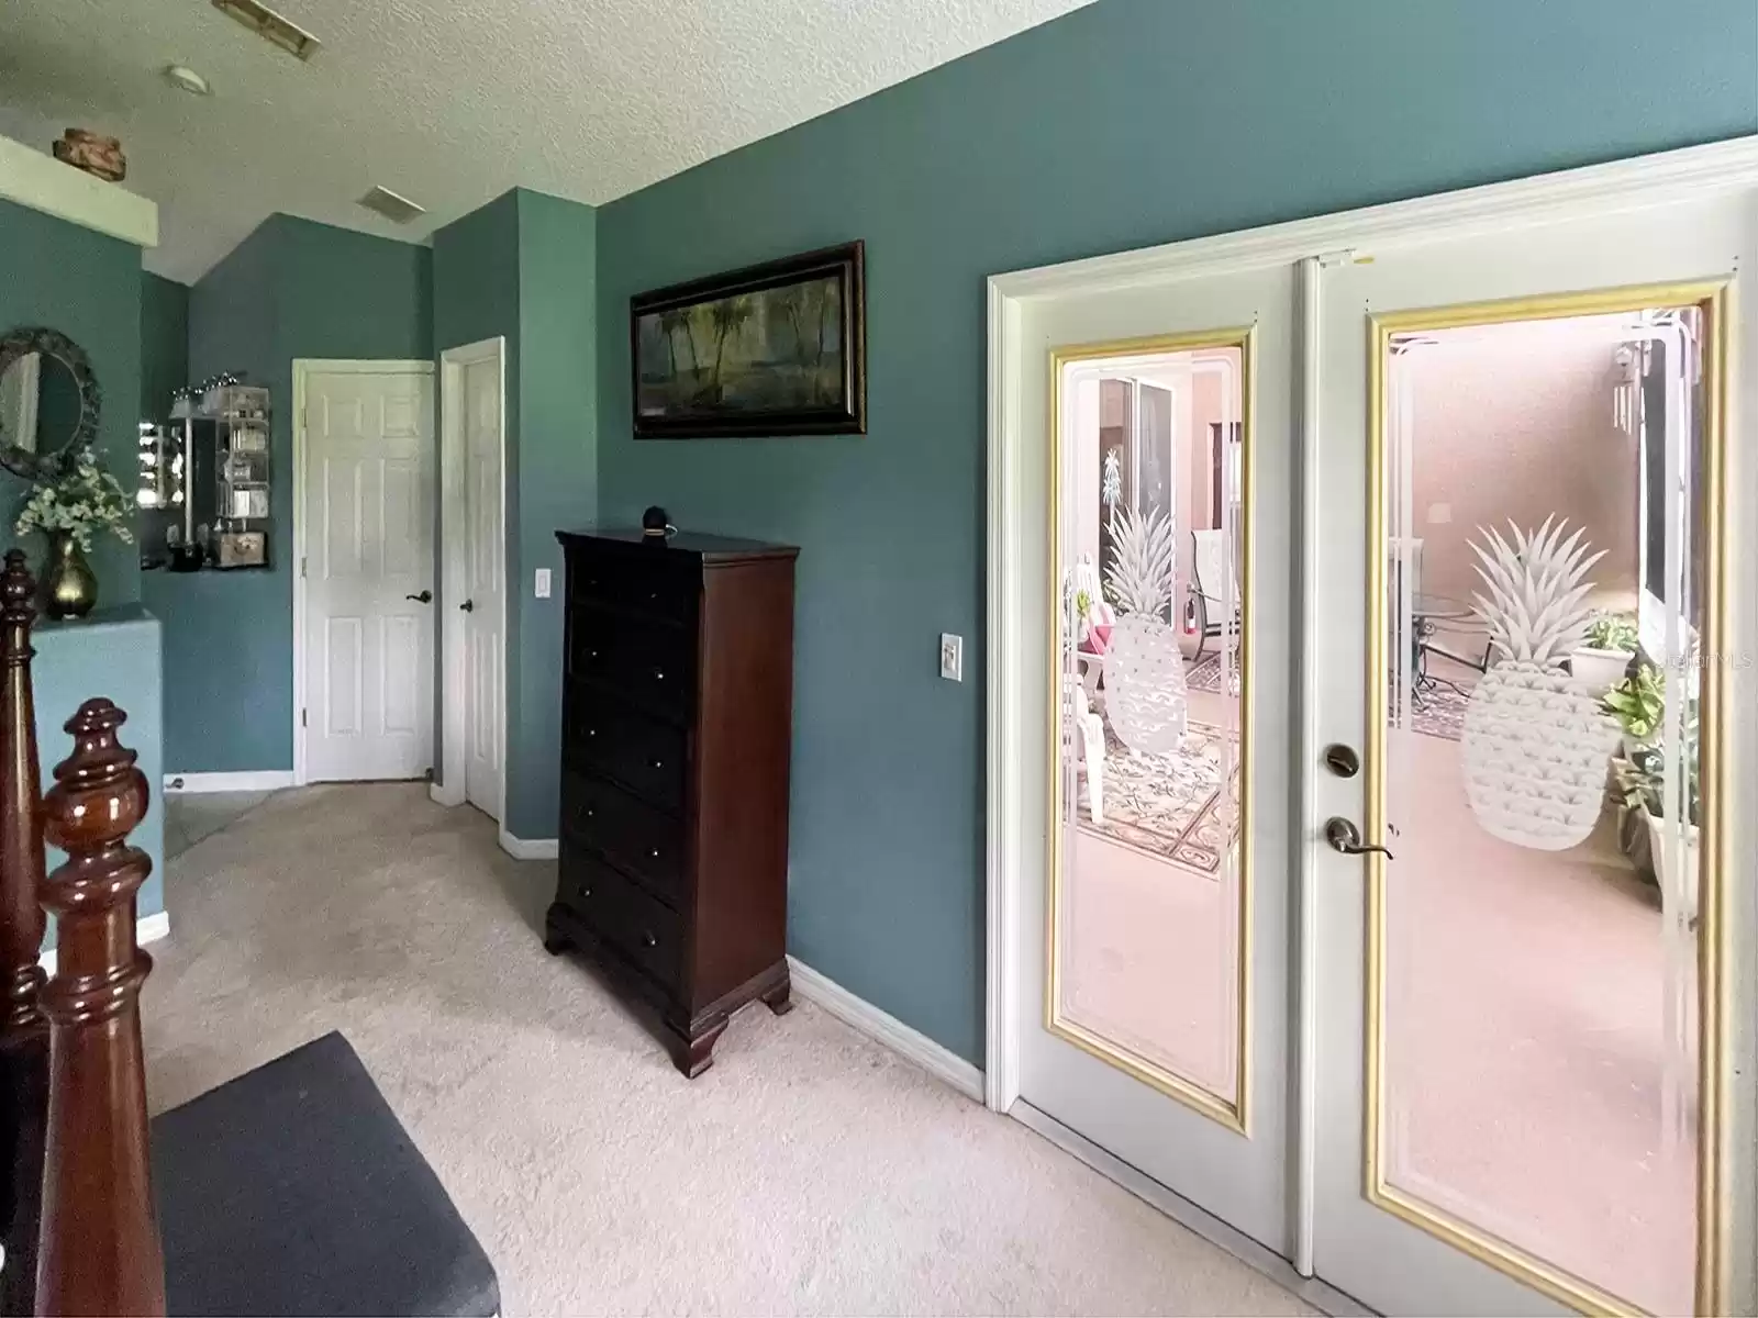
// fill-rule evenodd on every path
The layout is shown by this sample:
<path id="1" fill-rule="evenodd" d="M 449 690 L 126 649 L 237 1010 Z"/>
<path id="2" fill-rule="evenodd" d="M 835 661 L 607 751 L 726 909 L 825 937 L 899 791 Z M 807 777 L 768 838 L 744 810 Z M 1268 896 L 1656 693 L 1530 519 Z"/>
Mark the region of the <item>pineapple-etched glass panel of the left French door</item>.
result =
<path id="1" fill-rule="evenodd" d="M 1243 1126 L 1250 538 L 1246 464 L 1211 448 L 1243 432 L 1250 334 L 1180 343 L 1057 355 L 1067 750 L 1048 1028 Z"/>

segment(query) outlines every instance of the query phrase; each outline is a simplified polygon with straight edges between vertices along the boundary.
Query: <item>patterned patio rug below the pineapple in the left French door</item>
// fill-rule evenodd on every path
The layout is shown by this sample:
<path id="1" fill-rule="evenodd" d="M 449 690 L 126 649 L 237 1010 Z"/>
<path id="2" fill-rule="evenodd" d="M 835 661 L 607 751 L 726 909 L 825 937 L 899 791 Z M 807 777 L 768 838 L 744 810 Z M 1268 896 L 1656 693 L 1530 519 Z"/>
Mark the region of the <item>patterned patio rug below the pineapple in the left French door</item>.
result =
<path id="1" fill-rule="evenodd" d="M 1086 770 L 1079 770 L 1079 826 L 1150 856 L 1201 873 L 1218 873 L 1220 858 L 1239 836 L 1238 735 L 1190 721 L 1176 756 L 1137 756 L 1109 724 L 1104 729 L 1104 822 L 1086 808 Z M 1227 796 L 1222 800 L 1222 747 L 1232 745 Z"/>

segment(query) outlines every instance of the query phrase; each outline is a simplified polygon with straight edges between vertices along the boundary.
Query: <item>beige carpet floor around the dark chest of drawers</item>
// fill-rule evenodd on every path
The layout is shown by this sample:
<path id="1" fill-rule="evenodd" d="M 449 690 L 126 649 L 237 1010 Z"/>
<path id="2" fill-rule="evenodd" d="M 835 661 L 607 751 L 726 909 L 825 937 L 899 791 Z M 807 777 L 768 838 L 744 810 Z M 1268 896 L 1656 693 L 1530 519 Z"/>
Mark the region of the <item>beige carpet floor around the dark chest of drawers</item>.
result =
<path id="1" fill-rule="evenodd" d="M 810 1003 L 686 1081 L 543 952 L 554 865 L 420 786 L 278 793 L 167 868 L 155 1111 L 343 1030 L 503 1313 L 1310 1313 Z"/>

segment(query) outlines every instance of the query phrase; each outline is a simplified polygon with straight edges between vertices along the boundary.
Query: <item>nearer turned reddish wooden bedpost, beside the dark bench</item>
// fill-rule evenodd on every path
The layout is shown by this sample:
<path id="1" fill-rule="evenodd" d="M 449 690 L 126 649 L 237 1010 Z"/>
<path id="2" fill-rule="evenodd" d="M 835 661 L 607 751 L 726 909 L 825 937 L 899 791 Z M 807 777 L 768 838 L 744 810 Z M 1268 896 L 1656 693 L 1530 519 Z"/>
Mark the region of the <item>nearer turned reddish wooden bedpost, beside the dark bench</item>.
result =
<path id="1" fill-rule="evenodd" d="M 56 968 L 49 1017 L 49 1139 L 42 1177 L 39 1314 L 162 1314 L 165 1260 L 148 1165 L 141 984 L 134 896 L 153 863 L 128 845 L 146 814 L 146 777 L 116 743 L 125 715 L 88 699 L 67 722 L 74 754 L 44 798 Z"/>

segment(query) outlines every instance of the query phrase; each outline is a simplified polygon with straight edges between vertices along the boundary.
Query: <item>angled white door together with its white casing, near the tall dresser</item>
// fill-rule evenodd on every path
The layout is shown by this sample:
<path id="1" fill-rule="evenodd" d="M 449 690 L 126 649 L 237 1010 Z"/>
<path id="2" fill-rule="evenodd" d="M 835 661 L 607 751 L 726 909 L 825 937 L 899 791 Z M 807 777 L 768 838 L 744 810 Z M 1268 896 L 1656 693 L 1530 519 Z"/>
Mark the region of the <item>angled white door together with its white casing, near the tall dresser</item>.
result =
<path id="1" fill-rule="evenodd" d="M 506 793 L 505 358 L 501 337 L 441 353 L 445 764 L 434 791 L 498 822 Z"/>

